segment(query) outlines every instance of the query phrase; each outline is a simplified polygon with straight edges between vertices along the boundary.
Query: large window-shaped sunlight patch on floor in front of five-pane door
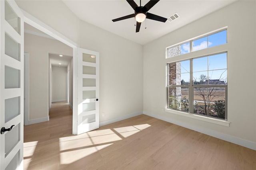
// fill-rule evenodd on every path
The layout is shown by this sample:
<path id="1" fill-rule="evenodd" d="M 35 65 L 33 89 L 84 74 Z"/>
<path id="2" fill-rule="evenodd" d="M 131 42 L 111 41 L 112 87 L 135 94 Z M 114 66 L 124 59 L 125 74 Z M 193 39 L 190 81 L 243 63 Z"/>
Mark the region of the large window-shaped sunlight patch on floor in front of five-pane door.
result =
<path id="1" fill-rule="evenodd" d="M 81 135 L 62 137 L 59 139 L 60 164 L 71 164 L 90 154 L 113 145 L 115 141 L 120 141 L 134 135 L 151 125 L 142 124 L 127 127 L 118 127 L 103 130 L 94 130 Z"/>

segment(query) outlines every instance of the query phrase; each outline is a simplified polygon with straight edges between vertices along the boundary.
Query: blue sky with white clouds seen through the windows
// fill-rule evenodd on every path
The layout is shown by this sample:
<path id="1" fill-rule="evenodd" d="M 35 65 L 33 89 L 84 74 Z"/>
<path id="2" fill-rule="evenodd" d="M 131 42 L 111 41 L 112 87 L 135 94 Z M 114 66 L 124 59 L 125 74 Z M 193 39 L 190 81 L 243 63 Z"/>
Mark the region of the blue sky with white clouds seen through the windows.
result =
<path id="1" fill-rule="evenodd" d="M 226 30 L 208 37 L 202 37 L 193 41 L 193 51 L 205 49 L 208 47 L 214 47 L 226 43 Z M 207 41 L 208 39 L 208 41 Z M 190 43 L 184 43 L 181 45 L 182 54 L 189 53 Z M 190 61 L 181 62 L 181 79 L 189 82 L 190 80 Z M 208 79 L 220 79 L 226 81 L 227 77 L 227 53 L 221 53 L 217 55 L 210 55 L 206 57 L 200 57 L 193 59 L 193 80 L 200 80 L 200 75 L 204 74 Z"/>

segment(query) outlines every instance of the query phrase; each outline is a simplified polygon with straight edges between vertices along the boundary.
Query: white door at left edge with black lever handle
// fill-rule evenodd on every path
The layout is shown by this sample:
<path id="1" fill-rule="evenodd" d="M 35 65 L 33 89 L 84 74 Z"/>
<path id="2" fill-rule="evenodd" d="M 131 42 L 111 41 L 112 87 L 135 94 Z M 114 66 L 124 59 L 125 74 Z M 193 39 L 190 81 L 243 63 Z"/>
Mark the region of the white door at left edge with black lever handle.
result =
<path id="1" fill-rule="evenodd" d="M 24 24 L 15 1 L 0 1 L 0 22 L 0 169 L 16 170 L 23 169 Z"/>

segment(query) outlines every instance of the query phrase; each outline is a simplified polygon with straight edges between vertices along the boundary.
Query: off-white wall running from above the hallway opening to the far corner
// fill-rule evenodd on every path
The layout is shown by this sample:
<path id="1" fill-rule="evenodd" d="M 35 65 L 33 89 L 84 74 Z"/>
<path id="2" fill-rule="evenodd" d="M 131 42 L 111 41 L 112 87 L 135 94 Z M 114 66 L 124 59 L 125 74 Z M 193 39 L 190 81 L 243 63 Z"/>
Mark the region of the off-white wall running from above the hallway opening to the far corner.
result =
<path id="1" fill-rule="evenodd" d="M 142 114 L 142 45 L 79 21 L 62 1 L 16 3 L 81 48 L 100 53 L 100 122 Z"/>

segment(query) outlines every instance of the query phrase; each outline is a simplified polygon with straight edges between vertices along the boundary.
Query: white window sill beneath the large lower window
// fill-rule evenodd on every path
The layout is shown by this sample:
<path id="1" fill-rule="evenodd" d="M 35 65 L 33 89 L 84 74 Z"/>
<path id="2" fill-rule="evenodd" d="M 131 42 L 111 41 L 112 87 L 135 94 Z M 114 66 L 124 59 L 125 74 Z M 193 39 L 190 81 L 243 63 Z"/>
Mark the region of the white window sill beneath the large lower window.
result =
<path id="1" fill-rule="evenodd" d="M 210 123 L 214 123 L 214 124 L 218 124 L 218 125 L 222 125 L 222 126 L 226 126 L 226 127 L 229 127 L 229 124 L 230 124 L 230 122 L 225 121 L 225 120 L 220 120 L 220 119 L 215 119 L 213 117 L 206 117 L 206 116 L 202 116 L 202 115 L 197 115 L 197 114 L 194 114 L 194 113 L 187 113 L 187 112 L 177 111 L 177 110 L 172 110 L 172 109 L 165 109 L 165 111 L 168 112 L 168 113 L 173 113 L 173 114 L 176 114 L 176 115 L 190 117 L 190 118 L 197 119 L 197 120 L 207 121 L 207 122 L 210 122 Z"/>

